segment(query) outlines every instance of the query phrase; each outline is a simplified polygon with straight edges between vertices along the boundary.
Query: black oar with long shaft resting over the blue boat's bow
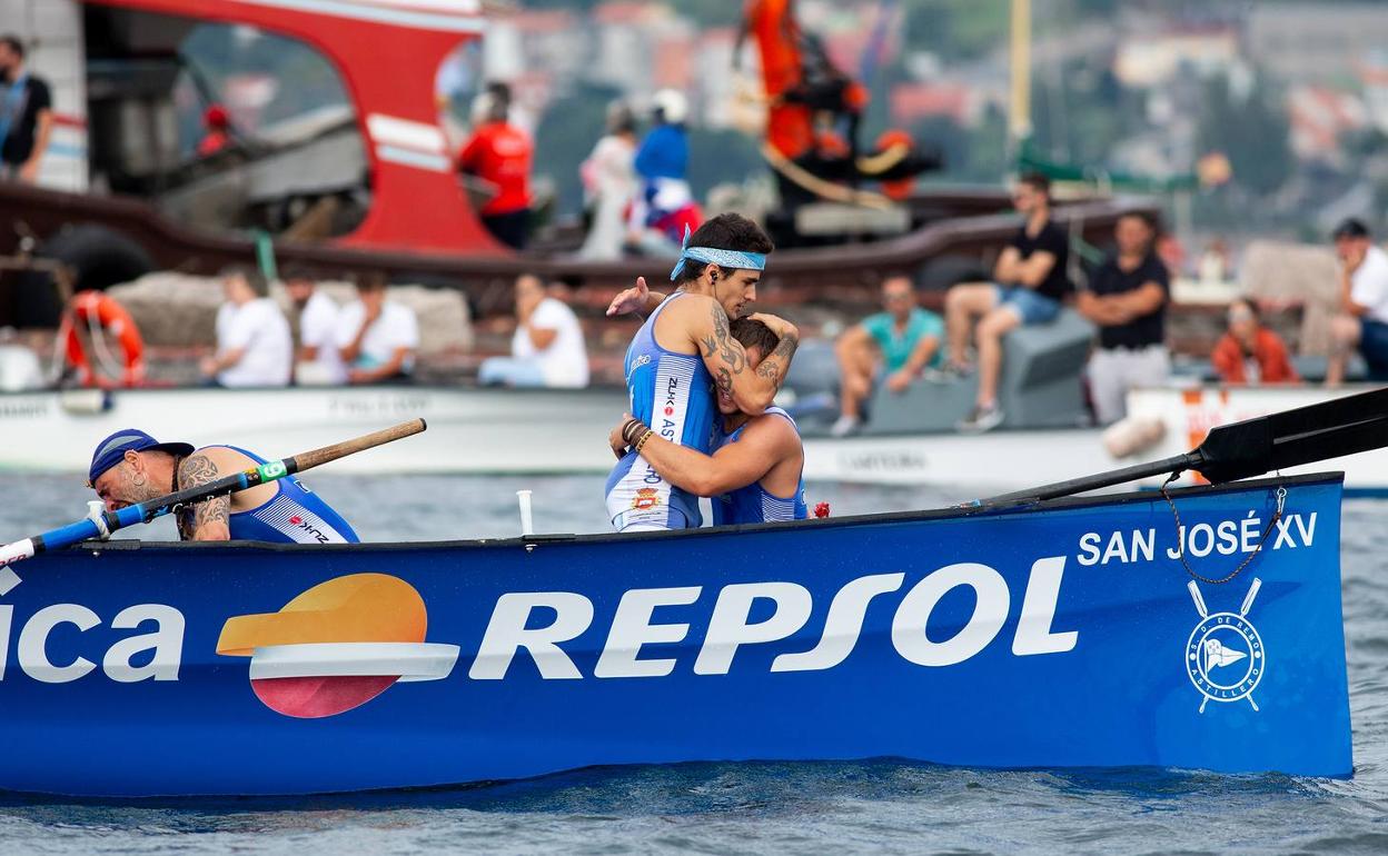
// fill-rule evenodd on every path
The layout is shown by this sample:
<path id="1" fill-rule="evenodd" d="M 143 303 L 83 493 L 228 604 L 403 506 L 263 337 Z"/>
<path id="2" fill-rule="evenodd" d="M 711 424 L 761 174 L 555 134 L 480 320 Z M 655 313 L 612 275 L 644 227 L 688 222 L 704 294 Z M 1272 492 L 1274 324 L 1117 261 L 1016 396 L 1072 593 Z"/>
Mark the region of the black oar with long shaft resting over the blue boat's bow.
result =
<path id="1" fill-rule="evenodd" d="M 1184 455 L 977 499 L 972 505 L 1026 505 L 1188 469 L 1220 484 L 1385 445 L 1388 388 L 1221 425 L 1209 433 L 1199 448 Z"/>

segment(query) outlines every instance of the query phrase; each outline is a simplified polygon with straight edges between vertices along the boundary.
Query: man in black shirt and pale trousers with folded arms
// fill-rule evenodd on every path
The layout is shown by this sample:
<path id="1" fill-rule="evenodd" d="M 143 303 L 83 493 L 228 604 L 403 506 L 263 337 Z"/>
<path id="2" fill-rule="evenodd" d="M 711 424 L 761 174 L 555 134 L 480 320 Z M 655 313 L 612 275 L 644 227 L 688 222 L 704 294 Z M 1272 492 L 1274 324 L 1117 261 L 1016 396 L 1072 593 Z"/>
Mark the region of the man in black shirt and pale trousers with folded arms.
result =
<path id="1" fill-rule="evenodd" d="M 1076 308 L 1099 326 L 1099 347 L 1090 358 L 1090 395 L 1099 425 L 1127 413 L 1127 391 L 1160 386 L 1171 370 L 1166 350 L 1166 304 L 1170 275 L 1152 251 L 1156 222 L 1124 214 L 1113 228 L 1117 252 L 1103 261 Z"/>

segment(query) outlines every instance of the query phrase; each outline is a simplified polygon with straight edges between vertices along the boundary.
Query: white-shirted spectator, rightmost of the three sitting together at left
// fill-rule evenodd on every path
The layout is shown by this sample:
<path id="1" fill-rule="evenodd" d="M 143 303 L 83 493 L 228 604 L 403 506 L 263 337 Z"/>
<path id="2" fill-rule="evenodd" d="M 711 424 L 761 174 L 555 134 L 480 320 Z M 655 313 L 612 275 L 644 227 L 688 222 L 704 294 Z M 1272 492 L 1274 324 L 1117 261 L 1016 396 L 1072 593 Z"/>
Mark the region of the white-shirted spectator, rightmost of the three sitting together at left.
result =
<path id="1" fill-rule="evenodd" d="M 348 383 L 408 380 L 419 350 L 414 309 L 386 298 L 383 273 L 357 276 L 357 300 L 337 315 L 335 336 Z"/>

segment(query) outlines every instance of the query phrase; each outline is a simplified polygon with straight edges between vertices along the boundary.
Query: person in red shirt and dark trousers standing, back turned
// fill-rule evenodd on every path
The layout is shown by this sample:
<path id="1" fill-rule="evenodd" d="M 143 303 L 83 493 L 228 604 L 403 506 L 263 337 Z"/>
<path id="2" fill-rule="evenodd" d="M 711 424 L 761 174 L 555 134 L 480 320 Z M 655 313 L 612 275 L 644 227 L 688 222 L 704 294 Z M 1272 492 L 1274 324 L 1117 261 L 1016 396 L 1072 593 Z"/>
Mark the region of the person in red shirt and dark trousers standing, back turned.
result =
<path id="1" fill-rule="evenodd" d="M 530 161 L 534 143 L 507 121 L 509 92 L 493 87 L 477 96 L 472 137 L 458 154 L 458 172 L 496 186 L 497 194 L 482 207 L 482 223 L 502 244 L 525 248 L 530 228 Z"/>

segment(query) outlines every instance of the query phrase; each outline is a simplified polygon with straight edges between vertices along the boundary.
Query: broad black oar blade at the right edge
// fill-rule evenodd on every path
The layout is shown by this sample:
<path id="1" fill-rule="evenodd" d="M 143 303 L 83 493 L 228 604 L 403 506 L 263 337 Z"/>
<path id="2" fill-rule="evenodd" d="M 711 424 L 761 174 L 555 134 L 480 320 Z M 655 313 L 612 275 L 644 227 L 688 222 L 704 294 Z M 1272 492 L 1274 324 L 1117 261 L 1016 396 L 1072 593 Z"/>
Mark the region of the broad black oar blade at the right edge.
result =
<path id="1" fill-rule="evenodd" d="M 1220 426 L 1194 455 L 1214 484 L 1388 445 L 1388 388 Z"/>

